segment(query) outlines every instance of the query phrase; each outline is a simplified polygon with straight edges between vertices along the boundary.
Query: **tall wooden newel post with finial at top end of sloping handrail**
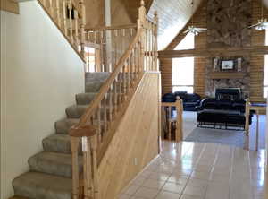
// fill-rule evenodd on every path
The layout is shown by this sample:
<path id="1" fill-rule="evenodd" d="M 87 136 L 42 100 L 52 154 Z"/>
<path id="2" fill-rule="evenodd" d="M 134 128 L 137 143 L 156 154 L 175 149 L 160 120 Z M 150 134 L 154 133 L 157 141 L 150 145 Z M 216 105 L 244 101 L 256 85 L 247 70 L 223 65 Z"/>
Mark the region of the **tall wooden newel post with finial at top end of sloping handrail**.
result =
<path id="1" fill-rule="evenodd" d="M 138 30 L 141 31 L 140 36 L 140 67 L 142 71 L 145 71 L 144 61 L 145 61 L 145 23 L 146 23 L 147 9 L 145 7 L 144 0 L 140 1 L 140 7 L 138 8 Z"/>

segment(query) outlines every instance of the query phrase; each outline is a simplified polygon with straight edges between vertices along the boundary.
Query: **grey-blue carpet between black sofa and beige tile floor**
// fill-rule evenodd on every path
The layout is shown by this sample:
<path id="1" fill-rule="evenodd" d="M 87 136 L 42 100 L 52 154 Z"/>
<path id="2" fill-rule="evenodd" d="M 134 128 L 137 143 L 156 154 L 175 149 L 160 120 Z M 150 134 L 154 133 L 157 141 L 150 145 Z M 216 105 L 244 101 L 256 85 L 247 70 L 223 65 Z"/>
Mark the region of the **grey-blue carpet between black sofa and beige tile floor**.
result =
<path id="1" fill-rule="evenodd" d="M 195 128 L 184 141 L 197 143 L 222 143 L 236 147 L 244 146 L 243 131 Z"/>

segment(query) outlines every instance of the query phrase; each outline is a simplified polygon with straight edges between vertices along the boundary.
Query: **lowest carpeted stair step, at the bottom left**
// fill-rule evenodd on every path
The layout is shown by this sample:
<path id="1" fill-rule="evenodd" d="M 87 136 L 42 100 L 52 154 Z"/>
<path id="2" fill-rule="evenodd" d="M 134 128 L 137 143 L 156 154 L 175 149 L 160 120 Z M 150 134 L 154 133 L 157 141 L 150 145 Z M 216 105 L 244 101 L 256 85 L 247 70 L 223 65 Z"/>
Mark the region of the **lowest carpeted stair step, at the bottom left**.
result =
<path id="1" fill-rule="evenodd" d="M 71 199 L 71 178 L 27 172 L 13 180 L 15 195 L 30 199 Z"/>

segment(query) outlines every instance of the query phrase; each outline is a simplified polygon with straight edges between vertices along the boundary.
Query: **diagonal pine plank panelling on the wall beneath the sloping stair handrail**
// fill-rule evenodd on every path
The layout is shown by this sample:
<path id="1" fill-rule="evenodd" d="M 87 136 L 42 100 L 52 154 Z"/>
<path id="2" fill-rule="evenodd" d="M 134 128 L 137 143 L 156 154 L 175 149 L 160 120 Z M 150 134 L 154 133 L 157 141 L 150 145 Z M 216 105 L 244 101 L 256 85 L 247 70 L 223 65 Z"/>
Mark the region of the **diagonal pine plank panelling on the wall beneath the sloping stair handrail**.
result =
<path id="1" fill-rule="evenodd" d="M 116 198 L 158 154 L 159 78 L 158 73 L 145 74 L 105 152 L 98 167 L 101 199 Z"/>

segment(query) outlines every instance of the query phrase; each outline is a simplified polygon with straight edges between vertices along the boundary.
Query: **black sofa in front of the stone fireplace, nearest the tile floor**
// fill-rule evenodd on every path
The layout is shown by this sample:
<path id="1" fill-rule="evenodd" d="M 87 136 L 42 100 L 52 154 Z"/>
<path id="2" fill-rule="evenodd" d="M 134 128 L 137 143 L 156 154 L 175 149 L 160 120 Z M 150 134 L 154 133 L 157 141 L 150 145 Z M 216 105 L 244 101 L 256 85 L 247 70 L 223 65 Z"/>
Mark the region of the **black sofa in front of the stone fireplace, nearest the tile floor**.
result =
<path id="1" fill-rule="evenodd" d="M 213 127 L 236 130 L 245 129 L 246 101 L 203 99 L 197 110 L 197 126 Z M 252 122 L 253 112 L 249 116 L 249 124 Z"/>

